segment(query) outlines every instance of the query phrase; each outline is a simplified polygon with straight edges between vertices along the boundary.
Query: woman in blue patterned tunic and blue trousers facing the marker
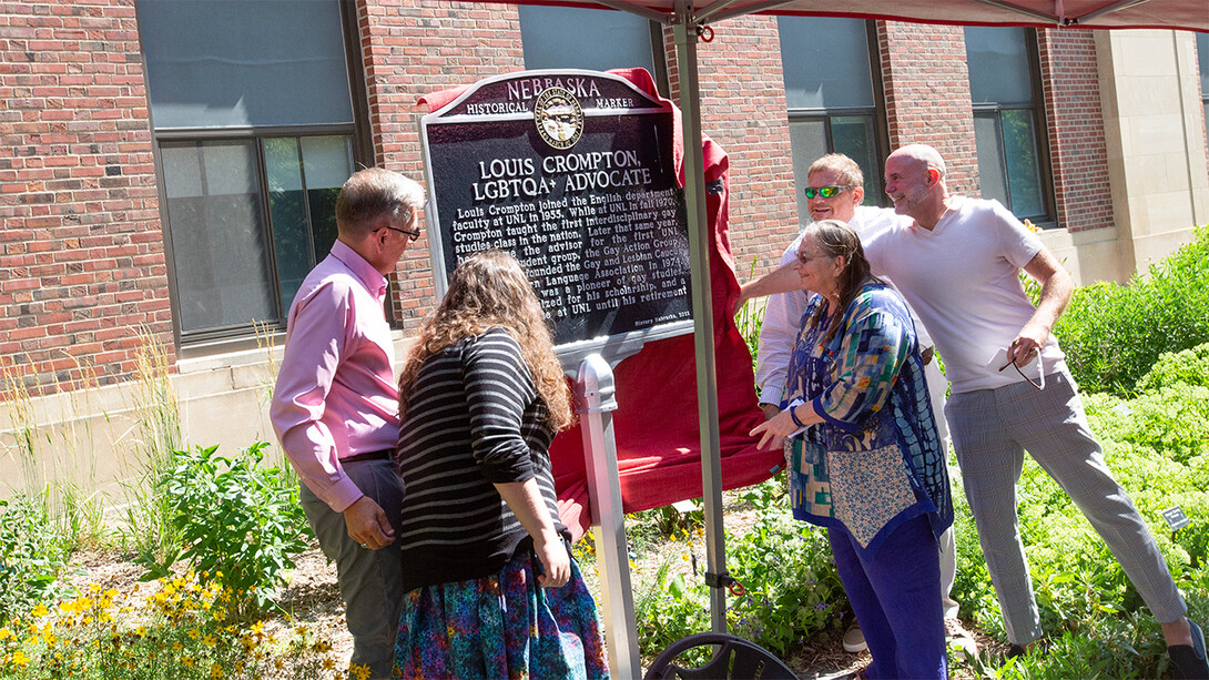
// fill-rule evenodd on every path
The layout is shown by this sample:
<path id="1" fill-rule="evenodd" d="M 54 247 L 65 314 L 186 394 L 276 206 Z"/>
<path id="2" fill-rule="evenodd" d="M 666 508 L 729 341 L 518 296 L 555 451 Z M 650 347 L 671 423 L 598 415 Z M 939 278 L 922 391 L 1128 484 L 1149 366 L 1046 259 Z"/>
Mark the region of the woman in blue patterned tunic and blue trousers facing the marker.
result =
<path id="1" fill-rule="evenodd" d="M 785 445 L 794 517 L 827 528 L 873 656 L 866 675 L 944 678 L 937 537 L 953 507 L 907 304 L 841 221 L 809 225 L 796 267 L 815 295 L 783 410 L 752 434 Z"/>

